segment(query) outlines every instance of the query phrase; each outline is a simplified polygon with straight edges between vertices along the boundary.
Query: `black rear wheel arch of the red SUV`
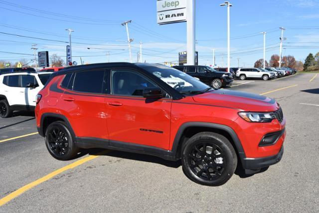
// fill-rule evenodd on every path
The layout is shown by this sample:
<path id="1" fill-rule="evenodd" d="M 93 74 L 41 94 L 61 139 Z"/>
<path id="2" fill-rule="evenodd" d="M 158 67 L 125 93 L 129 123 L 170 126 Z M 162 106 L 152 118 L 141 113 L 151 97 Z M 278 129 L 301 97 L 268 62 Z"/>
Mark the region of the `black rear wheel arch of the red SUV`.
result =
<path id="1" fill-rule="evenodd" d="M 72 139 L 75 140 L 76 137 L 69 120 L 64 115 L 56 113 L 43 113 L 41 115 L 40 128 L 38 129 L 39 135 L 44 137 L 46 128 L 54 121 L 63 121 L 70 130 Z"/>

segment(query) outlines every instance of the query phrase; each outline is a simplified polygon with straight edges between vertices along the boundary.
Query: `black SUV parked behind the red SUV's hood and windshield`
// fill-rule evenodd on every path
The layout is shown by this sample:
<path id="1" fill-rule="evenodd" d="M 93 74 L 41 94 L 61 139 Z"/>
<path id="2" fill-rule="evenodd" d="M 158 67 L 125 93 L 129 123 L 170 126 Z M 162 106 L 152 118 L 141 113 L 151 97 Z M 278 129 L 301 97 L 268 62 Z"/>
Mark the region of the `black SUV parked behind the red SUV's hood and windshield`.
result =
<path id="1" fill-rule="evenodd" d="M 218 72 L 208 66 L 174 66 L 173 68 L 198 78 L 201 82 L 210 85 L 214 89 L 230 86 L 233 82 L 231 73 Z"/>

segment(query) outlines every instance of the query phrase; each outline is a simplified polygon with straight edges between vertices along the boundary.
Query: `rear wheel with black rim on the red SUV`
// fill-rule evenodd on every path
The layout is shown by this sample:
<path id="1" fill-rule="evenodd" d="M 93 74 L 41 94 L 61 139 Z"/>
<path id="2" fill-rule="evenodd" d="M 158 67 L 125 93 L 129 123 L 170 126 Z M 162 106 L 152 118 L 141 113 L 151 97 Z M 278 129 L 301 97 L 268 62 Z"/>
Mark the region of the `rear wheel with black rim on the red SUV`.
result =
<path id="1" fill-rule="evenodd" d="M 46 128 L 45 145 L 52 157 L 58 160 L 71 160 L 79 152 L 63 121 L 55 121 Z"/>

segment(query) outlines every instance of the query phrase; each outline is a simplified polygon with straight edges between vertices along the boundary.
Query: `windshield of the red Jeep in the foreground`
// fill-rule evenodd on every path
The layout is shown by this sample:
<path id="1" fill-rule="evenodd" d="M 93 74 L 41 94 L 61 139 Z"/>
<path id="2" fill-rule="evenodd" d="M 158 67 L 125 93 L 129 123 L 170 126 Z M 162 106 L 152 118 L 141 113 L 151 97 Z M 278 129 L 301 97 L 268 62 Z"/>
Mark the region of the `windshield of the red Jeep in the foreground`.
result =
<path id="1" fill-rule="evenodd" d="M 180 93 L 203 92 L 210 89 L 210 87 L 186 73 L 162 64 L 137 65 L 152 73 Z"/>

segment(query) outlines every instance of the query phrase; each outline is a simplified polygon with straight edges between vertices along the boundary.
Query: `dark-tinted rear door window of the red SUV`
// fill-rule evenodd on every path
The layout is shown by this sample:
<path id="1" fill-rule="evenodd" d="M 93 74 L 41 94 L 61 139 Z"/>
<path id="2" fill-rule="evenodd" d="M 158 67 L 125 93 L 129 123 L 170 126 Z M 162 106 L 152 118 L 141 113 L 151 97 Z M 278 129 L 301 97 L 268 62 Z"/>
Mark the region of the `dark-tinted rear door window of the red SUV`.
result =
<path id="1" fill-rule="evenodd" d="M 73 90 L 85 93 L 102 93 L 104 70 L 78 72 L 75 74 Z"/>

